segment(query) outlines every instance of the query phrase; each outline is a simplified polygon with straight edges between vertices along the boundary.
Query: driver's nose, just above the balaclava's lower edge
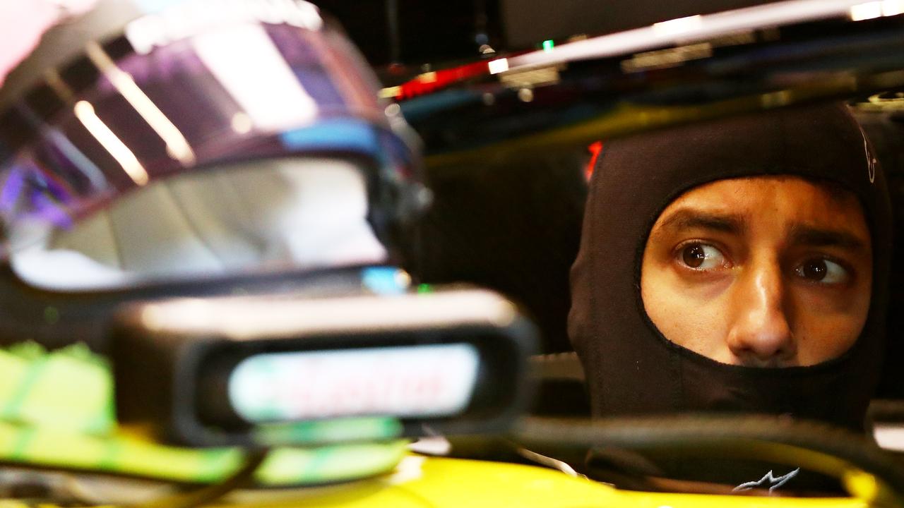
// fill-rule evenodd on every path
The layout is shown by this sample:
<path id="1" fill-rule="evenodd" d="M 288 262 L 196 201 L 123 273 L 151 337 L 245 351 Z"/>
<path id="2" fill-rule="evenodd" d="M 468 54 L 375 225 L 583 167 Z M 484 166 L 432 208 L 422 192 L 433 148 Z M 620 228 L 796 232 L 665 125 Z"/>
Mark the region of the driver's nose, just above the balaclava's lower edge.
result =
<path id="1" fill-rule="evenodd" d="M 759 263 L 745 270 L 734 285 L 727 342 L 736 361 L 753 367 L 791 363 L 796 356 L 796 342 L 778 263 Z"/>

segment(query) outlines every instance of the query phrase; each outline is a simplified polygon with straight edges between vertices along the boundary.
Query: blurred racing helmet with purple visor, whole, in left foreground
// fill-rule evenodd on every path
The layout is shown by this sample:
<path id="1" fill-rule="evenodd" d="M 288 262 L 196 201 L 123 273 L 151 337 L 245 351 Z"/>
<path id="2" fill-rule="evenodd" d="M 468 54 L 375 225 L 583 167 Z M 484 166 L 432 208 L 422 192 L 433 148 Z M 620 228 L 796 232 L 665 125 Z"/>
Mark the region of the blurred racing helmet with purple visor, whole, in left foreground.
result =
<path id="1" fill-rule="evenodd" d="M 428 202 L 418 140 L 314 5 L 52 4 L 0 88 L 0 343 L 102 347 L 129 300 L 397 259 Z"/>

